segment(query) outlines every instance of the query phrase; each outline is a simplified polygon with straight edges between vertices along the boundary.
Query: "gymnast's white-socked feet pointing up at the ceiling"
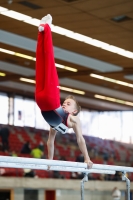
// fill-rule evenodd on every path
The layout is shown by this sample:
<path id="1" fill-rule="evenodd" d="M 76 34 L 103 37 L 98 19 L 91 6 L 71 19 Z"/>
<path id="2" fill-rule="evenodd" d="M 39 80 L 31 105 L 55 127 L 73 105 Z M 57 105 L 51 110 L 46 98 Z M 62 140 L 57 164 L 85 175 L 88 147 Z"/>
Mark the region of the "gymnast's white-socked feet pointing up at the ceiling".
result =
<path id="1" fill-rule="evenodd" d="M 39 32 L 44 31 L 44 26 L 43 25 L 45 25 L 45 24 L 48 24 L 49 26 L 51 26 L 51 24 L 52 24 L 52 16 L 50 14 L 46 15 L 45 17 L 43 17 L 41 19 L 40 25 L 38 27 Z"/>

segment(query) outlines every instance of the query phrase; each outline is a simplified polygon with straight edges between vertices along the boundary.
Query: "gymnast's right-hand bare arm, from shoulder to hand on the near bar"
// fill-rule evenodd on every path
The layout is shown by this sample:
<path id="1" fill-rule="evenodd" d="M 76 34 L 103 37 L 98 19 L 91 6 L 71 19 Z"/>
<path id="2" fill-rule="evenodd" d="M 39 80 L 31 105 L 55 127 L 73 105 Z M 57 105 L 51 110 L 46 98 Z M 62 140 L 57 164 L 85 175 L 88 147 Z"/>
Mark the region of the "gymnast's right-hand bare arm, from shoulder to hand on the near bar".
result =
<path id="1" fill-rule="evenodd" d="M 76 134 L 76 137 L 77 137 L 77 143 L 79 145 L 80 151 L 84 155 L 85 163 L 87 163 L 89 168 L 92 168 L 93 163 L 91 162 L 90 157 L 88 155 L 88 151 L 87 151 L 87 148 L 86 148 L 86 143 L 85 143 L 85 140 L 84 140 L 83 135 L 82 135 L 82 130 L 81 130 L 79 117 L 78 116 L 69 115 L 68 127 L 69 128 L 73 128 L 73 130 L 74 130 L 74 132 Z"/>

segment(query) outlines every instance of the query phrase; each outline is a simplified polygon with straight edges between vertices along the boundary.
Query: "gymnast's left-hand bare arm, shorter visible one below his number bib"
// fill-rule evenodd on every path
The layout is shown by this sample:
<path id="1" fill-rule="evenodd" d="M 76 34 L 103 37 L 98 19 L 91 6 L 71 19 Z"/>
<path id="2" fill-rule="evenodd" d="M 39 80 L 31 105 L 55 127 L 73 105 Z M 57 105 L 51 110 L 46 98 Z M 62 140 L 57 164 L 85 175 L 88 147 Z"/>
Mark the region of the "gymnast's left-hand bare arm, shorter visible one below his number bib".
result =
<path id="1" fill-rule="evenodd" d="M 54 157 L 54 141 L 57 131 L 50 128 L 49 137 L 47 141 L 48 159 L 53 160 Z"/>

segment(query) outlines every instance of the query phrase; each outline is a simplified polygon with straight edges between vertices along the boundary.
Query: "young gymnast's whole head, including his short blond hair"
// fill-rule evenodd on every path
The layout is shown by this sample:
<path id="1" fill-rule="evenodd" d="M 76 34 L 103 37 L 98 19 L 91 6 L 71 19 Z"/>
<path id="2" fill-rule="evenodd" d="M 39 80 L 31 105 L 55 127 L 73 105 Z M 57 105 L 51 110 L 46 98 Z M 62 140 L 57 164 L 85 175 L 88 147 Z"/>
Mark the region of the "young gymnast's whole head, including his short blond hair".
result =
<path id="1" fill-rule="evenodd" d="M 70 113 L 71 115 L 78 115 L 81 111 L 81 107 L 74 96 L 69 95 L 65 98 L 65 101 L 62 104 L 62 108 L 66 113 Z"/>

